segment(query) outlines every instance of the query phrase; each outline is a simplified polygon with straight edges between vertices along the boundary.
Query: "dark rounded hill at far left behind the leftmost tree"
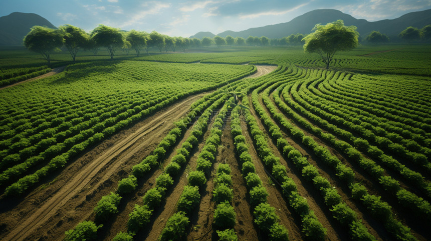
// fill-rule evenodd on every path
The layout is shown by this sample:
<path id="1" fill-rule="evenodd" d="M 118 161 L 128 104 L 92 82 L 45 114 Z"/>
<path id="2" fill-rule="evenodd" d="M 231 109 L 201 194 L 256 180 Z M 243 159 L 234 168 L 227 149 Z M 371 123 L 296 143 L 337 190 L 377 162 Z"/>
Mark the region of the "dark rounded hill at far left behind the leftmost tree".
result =
<path id="1" fill-rule="evenodd" d="M 35 13 L 12 12 L 0 17 L 0 45 L 22 45 L 24 36 L 35 25 L 57 28 Z"/>

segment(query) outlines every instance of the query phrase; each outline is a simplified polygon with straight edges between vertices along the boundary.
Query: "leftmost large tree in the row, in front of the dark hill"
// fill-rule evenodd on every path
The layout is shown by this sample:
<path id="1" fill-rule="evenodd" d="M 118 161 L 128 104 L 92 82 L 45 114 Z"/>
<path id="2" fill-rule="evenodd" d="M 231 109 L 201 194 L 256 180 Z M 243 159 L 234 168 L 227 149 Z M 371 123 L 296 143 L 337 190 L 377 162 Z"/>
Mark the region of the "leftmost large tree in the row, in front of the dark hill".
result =
<path id="1" fill-rule="evenodd" d="M 58 30 L 43 26 L 33 26 L 32 30 L 24 37 L 24 45 L 30 51 L 42 54 L 48 61 L 48 65 L 51 64 L 51 53 L 60 51 L 63 41 L 64 39 Z"/>

